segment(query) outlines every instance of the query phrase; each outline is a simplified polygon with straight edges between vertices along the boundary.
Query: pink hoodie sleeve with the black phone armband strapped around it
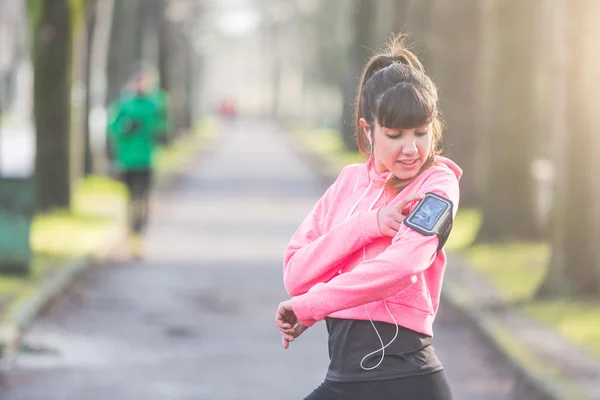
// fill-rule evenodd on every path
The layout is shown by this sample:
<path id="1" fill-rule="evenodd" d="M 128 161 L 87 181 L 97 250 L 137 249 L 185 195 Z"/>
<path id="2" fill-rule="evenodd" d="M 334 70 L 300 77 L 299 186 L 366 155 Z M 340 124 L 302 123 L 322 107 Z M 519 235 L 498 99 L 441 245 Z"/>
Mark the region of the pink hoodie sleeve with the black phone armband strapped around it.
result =
<path id="1" fill-rule="evenodd" d="M 449 198 L 456 215 L 458 179 L 451 172 L 429 177 L 419 189 L 419 193 L 426 192 Z M 292 308 L 304 325 L 311 326 L 336 311 L 384 300 L 412 285 L 415 275 L 431 266 L 437 246 L 437 236 L 425 236 L 402 224 L 384 252 L 294 297 Z"/>

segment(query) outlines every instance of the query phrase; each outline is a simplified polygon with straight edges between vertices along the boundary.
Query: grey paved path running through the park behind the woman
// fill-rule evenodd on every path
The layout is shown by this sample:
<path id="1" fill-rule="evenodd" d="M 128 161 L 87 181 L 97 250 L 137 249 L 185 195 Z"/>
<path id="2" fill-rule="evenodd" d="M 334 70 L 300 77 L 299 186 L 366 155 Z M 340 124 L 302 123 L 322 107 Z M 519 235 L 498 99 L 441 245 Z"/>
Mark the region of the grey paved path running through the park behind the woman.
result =
<path id="1" fill-rule="evenodd" d="M 323 324 L 284 351 L 281 260 L 324 188 L 276 130 L 247 123 L 155 198 L 143 262 L 86 274 L 32 329 L 2 400 L 302 399 Z M 458 400 L 509 399 L 510 371 L 448 308 L 434 344 Z"/>

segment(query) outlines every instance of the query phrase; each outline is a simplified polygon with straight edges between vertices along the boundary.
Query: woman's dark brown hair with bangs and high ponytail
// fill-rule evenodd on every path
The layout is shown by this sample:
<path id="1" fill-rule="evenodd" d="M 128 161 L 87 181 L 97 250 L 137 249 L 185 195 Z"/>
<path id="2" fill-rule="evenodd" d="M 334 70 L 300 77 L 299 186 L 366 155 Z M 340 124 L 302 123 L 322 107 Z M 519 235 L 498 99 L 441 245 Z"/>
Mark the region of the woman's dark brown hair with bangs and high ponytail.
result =
<path id="1" fill-rule="evenodd" d="M 371 126 L 377 121 L 392 129 L 412 129 L 432 123 L 432 149 L 420 174 L 433 164 L 435 155 L 441 150 L 442 124 L 437 89 L 417 56 L 406 48 L 404 40 L 403 35 L 392 37 L 387 50 L 371 57 L 365 66 L 356 98 L 355 133 L 359 150 L 369 154 L 372 149 L 360 126 L 361 118 Z M 394 177 L 388 182 L 400 191 L 412 179 Z"/>

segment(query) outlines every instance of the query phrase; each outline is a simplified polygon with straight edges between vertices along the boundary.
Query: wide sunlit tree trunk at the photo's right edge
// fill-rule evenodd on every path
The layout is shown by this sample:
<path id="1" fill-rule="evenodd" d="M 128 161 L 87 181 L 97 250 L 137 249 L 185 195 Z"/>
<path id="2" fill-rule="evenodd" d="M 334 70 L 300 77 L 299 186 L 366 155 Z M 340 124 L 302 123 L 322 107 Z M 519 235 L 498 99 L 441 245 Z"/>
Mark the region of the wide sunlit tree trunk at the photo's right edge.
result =
<path id="1" fill-rule="evenodd" d="M 554 111 L 560 115 L 556 129 L 565 133 L 555 155 L 558 174 L 552 257 L 537 296 L 599 296 L 600 184 L 592 171 L 600 168 L 600 140 L 594 133 L 600 109 L 600 56 L 594 45 L 594 38 L 600 35 L 600 3 L 581 0 L 566 5 L 561 0 L 553 5 L 560 7 L 554 10 L 559 23 L 555 36 L 559 42 L 554 46 L 559 52 L 558 92 L 554 95 L 564 95 L 564 102 L 556 103 Z"/>

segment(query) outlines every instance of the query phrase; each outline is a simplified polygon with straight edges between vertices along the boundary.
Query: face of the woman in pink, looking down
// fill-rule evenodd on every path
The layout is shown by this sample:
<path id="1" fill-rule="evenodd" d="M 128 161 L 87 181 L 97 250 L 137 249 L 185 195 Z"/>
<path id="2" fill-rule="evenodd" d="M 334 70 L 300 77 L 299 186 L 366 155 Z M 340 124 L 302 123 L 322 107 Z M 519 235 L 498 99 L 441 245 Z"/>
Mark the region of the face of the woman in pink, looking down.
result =
<path id="1" fill-rule="evenodd" d="M 363 125 L 363 128 L 367 135 L 369 131 L 373 134 L 375 169 L 380 174 L 389 171 L 398 179 L 411 179 L 429 158 L 433 140 L 431 124 L 390 129 L 376 121 L 374 126 Z"/>

